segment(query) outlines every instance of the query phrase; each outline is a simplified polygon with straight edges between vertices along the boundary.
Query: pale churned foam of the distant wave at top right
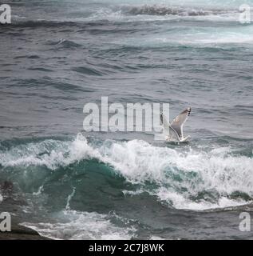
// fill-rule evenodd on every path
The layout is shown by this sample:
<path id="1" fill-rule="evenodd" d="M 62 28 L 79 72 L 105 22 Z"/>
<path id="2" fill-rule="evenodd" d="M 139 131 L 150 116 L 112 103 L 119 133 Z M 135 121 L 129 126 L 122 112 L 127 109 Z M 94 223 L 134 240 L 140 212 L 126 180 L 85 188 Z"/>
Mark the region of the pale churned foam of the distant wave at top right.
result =
<path id="1" fill-rule="evenodd" d="M 184 5 L 168 5 L 168 2 L 128 3 L 127 5 L 108 5 L 94 10 L 89 17 L 77 18 L 75 21 L 110 21 L 110 22 L 144 22 L 144 21 L 172 21 L 172 20 L 192 20 L 192 21 L 216 21 L 216 22 L 239 22 L 239 6 L 230 4 L 219 6 L 192 5 L 189 2 Z"/>

